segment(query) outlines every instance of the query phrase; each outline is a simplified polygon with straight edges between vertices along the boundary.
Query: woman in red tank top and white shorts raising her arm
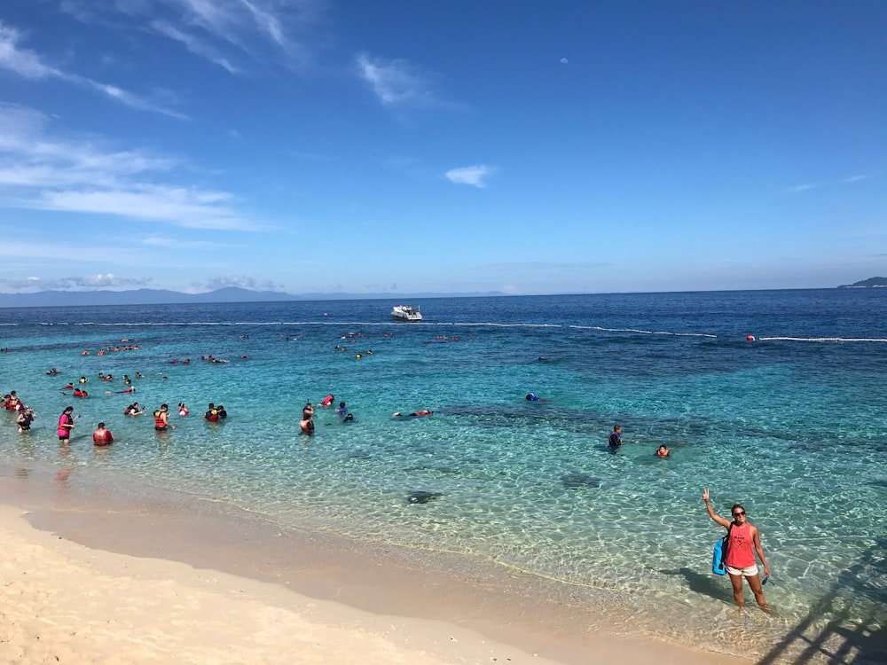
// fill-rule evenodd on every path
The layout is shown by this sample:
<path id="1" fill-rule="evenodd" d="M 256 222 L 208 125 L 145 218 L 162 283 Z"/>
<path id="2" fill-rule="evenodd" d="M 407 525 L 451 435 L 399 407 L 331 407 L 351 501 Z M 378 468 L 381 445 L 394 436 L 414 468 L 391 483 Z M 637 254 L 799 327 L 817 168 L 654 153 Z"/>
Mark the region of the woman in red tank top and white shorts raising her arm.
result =
<path id="1" fill-rule="evenodd" d="M 709 512 L 709 517 L 727 530 L 726 572 L 727 575 L 730 575 L 730 583 L 733 584 L 733 598 L 736 605 L 739 606 L 740 613 L 745 611 L 745 599 L 742 598 L 742 578 L 744 577 L 749 581 L 749 587 L 755 594 L 757 605 L 770 614 L 771 610 L 764 598 L 764 590 L 761 588 L 761 578 L 757 574 L 757 563 L 755 562 L 755 553 L 757 553 L 757 558 L 761 559 L 761 563 L 764 564 L 764 579 L 766 581 L 770 576 L 770 567 L 767 566 L 764 547 L 761 546 L 760 532 L 755 525 L 746 521 L 745 508 L 742 505 L 733 506 L 730 511 L 733 521 L 730 521 L 718 515 L 711 507 L 708 488 L 703 489 L 703 501 L 705 502 L 705 510 Z"/>

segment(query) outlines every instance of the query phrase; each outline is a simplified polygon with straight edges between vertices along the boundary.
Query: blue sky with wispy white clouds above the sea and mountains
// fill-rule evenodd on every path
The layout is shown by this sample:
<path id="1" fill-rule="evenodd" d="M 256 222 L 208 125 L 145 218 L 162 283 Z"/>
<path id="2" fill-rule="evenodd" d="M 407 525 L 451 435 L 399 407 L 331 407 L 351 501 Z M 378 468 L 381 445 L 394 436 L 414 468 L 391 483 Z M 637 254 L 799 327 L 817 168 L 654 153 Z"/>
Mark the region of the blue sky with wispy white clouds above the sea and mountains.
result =
<path id="1" fill-rule="evenodd" d="M 887 2 L 4 0 L 0 291 L 887 275 Z"/>

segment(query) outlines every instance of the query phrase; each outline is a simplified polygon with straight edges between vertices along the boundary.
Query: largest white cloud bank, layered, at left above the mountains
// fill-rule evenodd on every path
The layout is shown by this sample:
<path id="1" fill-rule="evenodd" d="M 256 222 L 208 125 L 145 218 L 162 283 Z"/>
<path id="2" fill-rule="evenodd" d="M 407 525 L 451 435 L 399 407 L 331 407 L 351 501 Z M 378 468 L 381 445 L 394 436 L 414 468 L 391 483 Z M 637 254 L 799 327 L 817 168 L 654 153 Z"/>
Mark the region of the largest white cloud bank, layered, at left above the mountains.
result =
<path id="1" fill-rule="evenodd" d="M 0 105 L 0 197 L 8 207 L 255 231 L 230 192 L 174 182 L 182 160 L 52 137 L 32 109 Z M 167 182 L 163 182 L 166 180 Z"/>

